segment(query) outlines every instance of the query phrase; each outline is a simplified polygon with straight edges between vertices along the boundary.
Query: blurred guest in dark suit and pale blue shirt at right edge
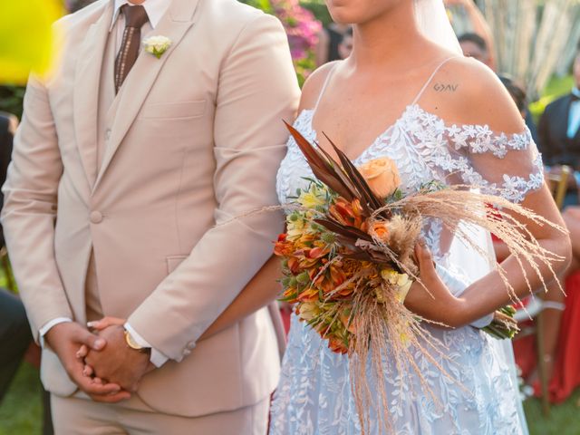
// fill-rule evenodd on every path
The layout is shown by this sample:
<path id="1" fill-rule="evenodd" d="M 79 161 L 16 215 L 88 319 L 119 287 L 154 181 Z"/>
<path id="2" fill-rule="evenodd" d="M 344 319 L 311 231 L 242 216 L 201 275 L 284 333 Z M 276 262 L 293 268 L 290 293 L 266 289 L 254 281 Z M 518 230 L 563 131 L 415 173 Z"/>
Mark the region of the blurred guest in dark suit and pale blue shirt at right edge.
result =
<path id="1" fill-rule="evenodd" d="M 580 47 L 579 47 L 580 48 Z M 572 92 L 546 106 L 539 123 L 540 150 L 550 170 L 561 165 L 575 170 L 570 179 L 565 205 L 578 204 L 580 183 L 580 50 L 574 62 L 575 86 Z"/>

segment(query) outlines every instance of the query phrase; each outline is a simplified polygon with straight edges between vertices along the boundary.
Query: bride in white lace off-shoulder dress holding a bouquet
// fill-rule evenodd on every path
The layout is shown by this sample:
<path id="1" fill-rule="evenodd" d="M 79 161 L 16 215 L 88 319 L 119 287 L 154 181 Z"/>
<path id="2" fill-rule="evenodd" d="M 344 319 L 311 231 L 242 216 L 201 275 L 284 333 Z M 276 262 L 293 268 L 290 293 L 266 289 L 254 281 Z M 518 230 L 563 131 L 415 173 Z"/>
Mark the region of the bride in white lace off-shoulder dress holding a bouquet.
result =
<path id="1" fill-rule="evenodd" d="M 433 179 L 494 192 L 502 189 L 506 198 L 562 225 L 544 184 L 541 158 L 517 108 L 494 73 L 454 50 L 457 40 L 449 36 L 447 17 L 441 18 L 441 0 L 328 0 L 328 7 L 335 22 L 353 24 L 354 49 L 348 59 L 324 65 L 305 83 L 295 121 L 305 138 L 330 150 L 324 132 L 357 165 L 389 157 L 406 191 Z M 427 9 L 432 14 L 419 24 L 417 12 Z M 433 41 L 430 36 L 435 34 L 424 29 L 438 26 L 435 34 L 440 39 Z M 277 179 L 281 203 L 304 188 L 308 177 L 313 177 L 311 170 L 289 140 Z M 567 237 L 549 227 L 528 229 L 543 247 L 569 256 Z M 393 432 L 527 433 L 509 361 L 511 345 L 478 329 L 490 321 L 487 314 L 510 302 L 506 286 L 487 260 L 451 241 L 438 221 L 430 222 L 423 236 L 440 278 L 433 267 L 421 270 L 421 278 L 436 298 L 416 285 L 405 304 L 454 327 L 427 326 L 446 346 L 447 356 L 439 362 L 454 380 L 417 353 L 438 406 L 423 391 L 416 373 L 397 372 L 387 361 Z M 488 234 L 479 232 L 477 237 L 481 244 L 489 241 Z M 556 271 L 565 263 L 554 265 Z M 517 295 L 527 294 L 516 259 L 508 258 L 503 266 Z M 539 288 L 539 278 L 525 267 L 532 285 Z M 549 276 L 545 269 L 542 274 Z M 348 357 L 329 350 L 318 333 L 294 315 L 288 340 L 270 433 L 361 433 Z M 377 420 L 372 434 L 382 433 Z"/>

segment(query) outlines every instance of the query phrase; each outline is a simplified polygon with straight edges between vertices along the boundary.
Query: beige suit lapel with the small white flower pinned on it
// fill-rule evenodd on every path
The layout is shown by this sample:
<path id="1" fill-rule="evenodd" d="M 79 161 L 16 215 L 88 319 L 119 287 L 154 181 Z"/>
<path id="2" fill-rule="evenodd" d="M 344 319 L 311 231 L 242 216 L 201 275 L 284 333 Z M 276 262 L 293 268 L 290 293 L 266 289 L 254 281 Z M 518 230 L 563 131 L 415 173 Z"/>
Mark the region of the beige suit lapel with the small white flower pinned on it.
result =
<path id="1" fill-rule="evenodd" d="M 171 5 L 169 5 L 168 13 L 163 16 L 160 24 L 153 31 L 153 34 L 166 36 L 171 40 L 169 49 L 161 55 L 160 59 L 141 50 L 137 61 L 131 69 L 131 73 L 129 73 L 121 87 L 117 116 L 111 129 L 111 140 L 104 152 L 101 170 L 97 176 L 93 191 L 97 189 L 105 171 L 111 164 L 115 152 L 135 121 L 143 102 L 160 74 L 161 68 L 193 24 L 193 15 L 197 5 L 198 0 L 173 0 Z"/>

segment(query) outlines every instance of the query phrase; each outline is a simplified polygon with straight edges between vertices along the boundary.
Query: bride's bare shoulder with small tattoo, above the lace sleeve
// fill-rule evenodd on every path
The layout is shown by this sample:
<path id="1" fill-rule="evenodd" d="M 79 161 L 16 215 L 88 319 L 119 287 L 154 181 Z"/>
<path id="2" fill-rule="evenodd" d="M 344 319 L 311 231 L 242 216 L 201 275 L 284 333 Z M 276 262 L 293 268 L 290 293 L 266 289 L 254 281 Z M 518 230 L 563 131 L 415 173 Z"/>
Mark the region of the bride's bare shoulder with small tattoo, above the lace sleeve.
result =
<path id="1" fill-rule="evenodd" d="M 524 122 L 498 75 L 487 65 L 467 57 L 445 63 L 426 95 L 442 118 L 463 124 L 485 124 L 494 131 L 521 132 Z"/>

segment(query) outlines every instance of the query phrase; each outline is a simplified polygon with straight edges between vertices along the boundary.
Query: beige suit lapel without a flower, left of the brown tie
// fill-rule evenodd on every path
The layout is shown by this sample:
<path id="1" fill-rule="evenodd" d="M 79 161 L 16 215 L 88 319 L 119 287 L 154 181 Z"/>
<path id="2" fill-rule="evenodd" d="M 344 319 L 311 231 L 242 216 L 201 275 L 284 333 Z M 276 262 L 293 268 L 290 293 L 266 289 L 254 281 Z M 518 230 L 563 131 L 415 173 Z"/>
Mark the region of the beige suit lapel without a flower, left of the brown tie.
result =
<path id="1" fill-rule="evenodd" d="M 84 37 L 74 73 L 74 131 L 82 167 L 92 186 L 97 178 L 99 84 L 112 19 L 112 2 Z"/>

